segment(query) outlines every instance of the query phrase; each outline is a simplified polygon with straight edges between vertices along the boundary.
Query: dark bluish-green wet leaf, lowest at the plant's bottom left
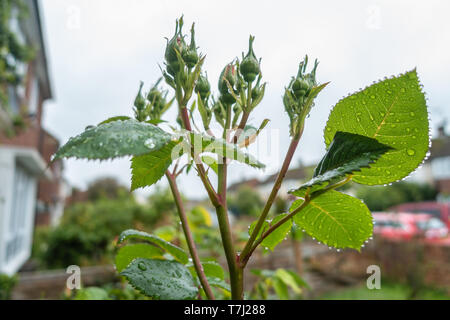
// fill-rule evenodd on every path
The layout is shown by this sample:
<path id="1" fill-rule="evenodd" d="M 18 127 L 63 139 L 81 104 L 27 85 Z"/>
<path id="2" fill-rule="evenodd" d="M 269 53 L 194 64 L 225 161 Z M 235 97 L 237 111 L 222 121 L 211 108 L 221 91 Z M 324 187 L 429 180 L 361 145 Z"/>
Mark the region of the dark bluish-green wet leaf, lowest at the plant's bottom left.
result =
<path id="1" fill-rule="evenodd" d="M 187 300 L 198 294 L 191 273 L 176 261 L 138 258 L 120 275 L 153 299 Z"/>

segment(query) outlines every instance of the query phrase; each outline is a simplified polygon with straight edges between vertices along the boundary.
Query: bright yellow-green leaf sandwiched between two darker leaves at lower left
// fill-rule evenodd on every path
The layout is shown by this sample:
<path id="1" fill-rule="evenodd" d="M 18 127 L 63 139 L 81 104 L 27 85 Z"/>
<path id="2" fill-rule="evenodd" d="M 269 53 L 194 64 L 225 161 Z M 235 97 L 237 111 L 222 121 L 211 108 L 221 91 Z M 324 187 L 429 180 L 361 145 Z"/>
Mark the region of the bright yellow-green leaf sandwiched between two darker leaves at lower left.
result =
<path id="1" fill-rule="evenodd" d="M 118 272 L 125 269 L 131 261 L 136 258 L 157 258 L 162 257 L 163 251 L 155 246 L 145 243 L 136 243 L 123 246 L 119 249 L 115 258 L 115 265 Z"/>

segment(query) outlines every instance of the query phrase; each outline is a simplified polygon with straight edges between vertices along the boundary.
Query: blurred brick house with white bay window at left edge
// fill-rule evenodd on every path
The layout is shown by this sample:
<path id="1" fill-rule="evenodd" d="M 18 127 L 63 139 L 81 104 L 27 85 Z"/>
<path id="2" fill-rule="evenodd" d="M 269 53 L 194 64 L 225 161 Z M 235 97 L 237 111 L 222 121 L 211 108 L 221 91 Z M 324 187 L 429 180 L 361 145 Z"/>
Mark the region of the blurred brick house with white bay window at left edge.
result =
<path id="1" fill-rule="evenodd" d="M 55 224 L 62 215 L 62 162 L 50 164 L 58 140 L 42 127 L 44 101 L 52 98 L 37 0 L 24 1 L 26 19 L 11 17 L 10 29 L 35 52 L 20 63 L 23 81 L 7 85 L 0 105 L 0 273 L 13 274 L 29 258 L 35 224 Z M 23 126 L 14 128 L 13 119 Z M 6 132 L 9 132 L 7 134 Z"/>

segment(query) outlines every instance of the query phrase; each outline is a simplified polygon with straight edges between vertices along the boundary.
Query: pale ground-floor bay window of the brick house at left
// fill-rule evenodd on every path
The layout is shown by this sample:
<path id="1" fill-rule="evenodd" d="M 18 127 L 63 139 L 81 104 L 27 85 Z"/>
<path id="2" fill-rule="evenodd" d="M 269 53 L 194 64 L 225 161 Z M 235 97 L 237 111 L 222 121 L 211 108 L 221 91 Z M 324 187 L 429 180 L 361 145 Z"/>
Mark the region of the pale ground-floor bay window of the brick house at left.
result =
<path id="1" fill-rule="evenodd" d="M 13 182 L 13 201 L 6 237 L 6 263 L 12 261 L 26 248 L 27 213 L 32 186 L 32 178 L 19 164 L 16 165 Z"/>

